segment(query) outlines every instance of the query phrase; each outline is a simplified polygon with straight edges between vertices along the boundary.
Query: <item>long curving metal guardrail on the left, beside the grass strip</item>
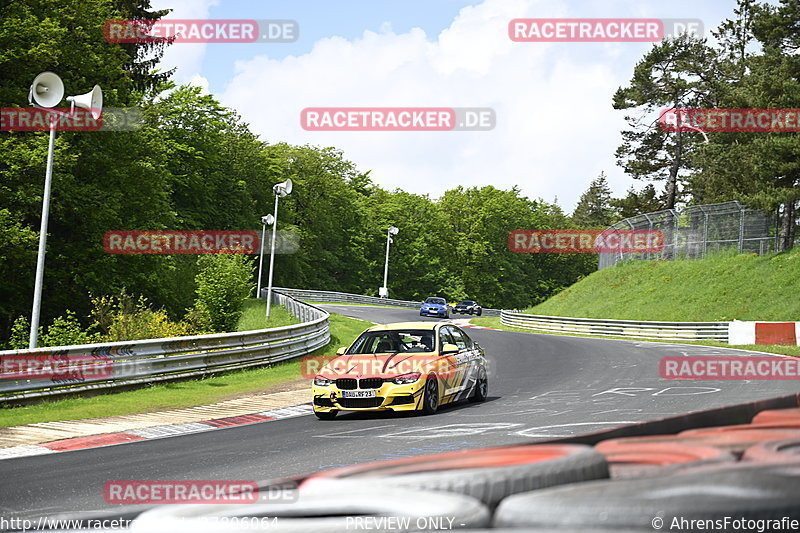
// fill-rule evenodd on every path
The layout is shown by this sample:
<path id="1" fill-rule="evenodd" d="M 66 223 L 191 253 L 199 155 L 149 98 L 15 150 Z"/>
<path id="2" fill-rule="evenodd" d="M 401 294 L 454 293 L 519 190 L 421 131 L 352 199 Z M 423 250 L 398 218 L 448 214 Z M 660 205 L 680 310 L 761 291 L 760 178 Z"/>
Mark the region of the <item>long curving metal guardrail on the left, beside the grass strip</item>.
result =
<path id="1" fill-rule="evenodd" d="M 105 344 L 0 351 L 0 401 L 203 376 L 292 359 L 328 344 L 327 311 L 276 293 L 301 323 L 279 328 Z M 66 369 L 50 378 L 14 379 L 20 364 Z M 26 363 L 27 361 L 27 363 Z M 27 366 L 31 368 L 30 364 Z"/>

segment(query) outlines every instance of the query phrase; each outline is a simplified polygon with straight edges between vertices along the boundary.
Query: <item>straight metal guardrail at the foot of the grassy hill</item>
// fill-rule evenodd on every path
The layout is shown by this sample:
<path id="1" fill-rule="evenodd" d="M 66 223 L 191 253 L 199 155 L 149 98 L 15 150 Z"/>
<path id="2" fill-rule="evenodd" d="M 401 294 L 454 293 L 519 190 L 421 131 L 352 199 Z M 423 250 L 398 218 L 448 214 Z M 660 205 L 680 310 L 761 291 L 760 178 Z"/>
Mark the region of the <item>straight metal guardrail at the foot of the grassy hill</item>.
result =
<path id="1" fill-rule="evenodd" d="M 652 322 L 528 315 L 515 311 L 502 311 L 500 323 L 505 326 L 554 333 L 728 342 L 728 322 Z"/>

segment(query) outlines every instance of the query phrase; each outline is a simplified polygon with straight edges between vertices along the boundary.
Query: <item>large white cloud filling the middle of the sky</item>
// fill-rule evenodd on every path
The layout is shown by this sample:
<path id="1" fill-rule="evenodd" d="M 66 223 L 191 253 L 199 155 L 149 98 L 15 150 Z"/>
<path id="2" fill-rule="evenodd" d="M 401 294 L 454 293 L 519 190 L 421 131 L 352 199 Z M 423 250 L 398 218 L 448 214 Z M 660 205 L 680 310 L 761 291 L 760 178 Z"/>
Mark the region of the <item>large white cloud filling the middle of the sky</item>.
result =
<path id="1" fill-rule="evenodd" d="M 558 1 L 486 0 L 460 11 L 438 36 L 420 29 L 331 37 L 302 56 L 236 64 L 221 100 L 270 142 L 336 146 L 384 187 L 434 196 L 444 190 L 519 185 L 571 210 L 601 170 L 621 193 L 630 180 L 614 164 L 623 128 L 611 95 L 630 76 L 613 71 L 604 45 L 515 43 L 508 21 L 575 16 Z M 583 55 L 581 55 L 583 54 Z M 621 78 L 622 76 L 622 78 Z M 307 132 L 305 107 L 492 107 L 488 132 Z"/>

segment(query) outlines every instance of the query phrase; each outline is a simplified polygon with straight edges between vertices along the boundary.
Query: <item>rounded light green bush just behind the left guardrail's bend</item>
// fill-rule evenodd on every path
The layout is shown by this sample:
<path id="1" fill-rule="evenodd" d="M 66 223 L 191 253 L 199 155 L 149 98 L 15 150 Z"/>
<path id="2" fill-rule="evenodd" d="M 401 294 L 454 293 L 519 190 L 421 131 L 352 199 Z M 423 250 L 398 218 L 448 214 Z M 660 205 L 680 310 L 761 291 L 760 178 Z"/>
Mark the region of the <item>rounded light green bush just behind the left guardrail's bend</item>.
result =
<path id="1" fill-rule="evenodd" d="M 236 331 L 244 301 L 253 292 L 253 260 L 239 254 L 216 254 L 198 260 L 197 298 L 186 320 L 197 328 Z"/>

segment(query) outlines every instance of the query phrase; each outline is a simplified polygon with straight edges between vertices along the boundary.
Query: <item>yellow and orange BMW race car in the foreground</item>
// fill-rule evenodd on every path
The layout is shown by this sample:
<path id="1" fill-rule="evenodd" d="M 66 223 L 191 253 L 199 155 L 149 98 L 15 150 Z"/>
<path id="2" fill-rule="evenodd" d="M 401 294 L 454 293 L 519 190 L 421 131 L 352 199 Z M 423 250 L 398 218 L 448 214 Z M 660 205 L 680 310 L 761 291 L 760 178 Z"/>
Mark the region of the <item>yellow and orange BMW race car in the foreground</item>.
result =
<path id="1" fill-rule="evenodd" d="M 483 349 L 447 322 L 373 326 L 314 377 L 314 414 L 339 411 L 419 411 L 462 399 L 486 399 Z"/>

